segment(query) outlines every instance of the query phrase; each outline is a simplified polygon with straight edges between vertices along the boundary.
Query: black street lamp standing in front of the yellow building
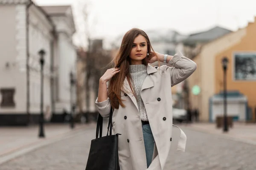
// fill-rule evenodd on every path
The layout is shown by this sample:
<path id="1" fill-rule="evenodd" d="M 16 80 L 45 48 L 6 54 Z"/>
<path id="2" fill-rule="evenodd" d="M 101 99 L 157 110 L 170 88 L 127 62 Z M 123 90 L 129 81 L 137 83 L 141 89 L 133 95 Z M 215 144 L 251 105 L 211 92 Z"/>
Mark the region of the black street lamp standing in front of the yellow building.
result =
<path id="1" fill-rule="evenodd" d="M 223 85 L 224 85 L 224 126 L 223 131 L 228 131 L 228 125 L 227 125 L 227 65 L 228 65 L 228 59 L 227 57 L 222 58 L 222 68 L 223 68 Z"/>

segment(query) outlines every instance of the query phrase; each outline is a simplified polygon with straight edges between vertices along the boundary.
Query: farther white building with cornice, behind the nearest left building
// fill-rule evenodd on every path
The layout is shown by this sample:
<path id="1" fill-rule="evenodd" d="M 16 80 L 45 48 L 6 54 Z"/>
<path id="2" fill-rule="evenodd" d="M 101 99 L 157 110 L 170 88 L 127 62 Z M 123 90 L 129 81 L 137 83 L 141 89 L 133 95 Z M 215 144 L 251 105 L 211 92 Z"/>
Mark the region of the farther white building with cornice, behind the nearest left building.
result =
<path id="1" fill-rule="evenodd" d="M 75 24 L 71 6 L 42 6 L 55 25 L 55 57 L 54 57 L 54 105 L 53 119 L 62 121 L 64 110 L 70 112 L 70 71 L 76 74 L 76 48 L 72 37 Z M 75 86 L 75 85 L 74 85 Z M 75 89 L 73 99 L 76 101 Z"/>

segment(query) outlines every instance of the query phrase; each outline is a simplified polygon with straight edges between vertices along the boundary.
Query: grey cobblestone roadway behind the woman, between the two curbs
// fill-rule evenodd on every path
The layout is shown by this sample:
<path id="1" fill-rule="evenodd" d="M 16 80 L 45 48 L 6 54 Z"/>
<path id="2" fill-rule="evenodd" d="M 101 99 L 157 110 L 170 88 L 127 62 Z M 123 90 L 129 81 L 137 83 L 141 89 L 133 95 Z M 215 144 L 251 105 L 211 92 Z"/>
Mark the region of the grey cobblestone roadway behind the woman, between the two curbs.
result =
<path id="1" fill-rule="evenodd" d="M 182 127 L 183 128 L 183 127 Z M 173 151 L 166 170 L 256 170 L 256 145 L 189 130 L 186 152 Z M 174 132 L 173 139 L 179 136 Z M 84 170 L 95 130 L 50 144 L 0 165 L 0 170 Z M 173 140 L 172 150 L 175 150 Z"/>

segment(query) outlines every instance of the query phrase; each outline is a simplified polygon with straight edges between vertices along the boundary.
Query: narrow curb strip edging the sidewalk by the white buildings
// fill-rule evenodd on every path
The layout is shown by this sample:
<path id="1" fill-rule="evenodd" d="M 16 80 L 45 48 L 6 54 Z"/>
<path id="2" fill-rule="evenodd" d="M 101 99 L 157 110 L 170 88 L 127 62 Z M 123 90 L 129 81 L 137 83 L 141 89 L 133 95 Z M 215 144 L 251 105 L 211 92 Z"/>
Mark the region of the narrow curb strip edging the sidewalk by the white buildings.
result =
<path id="1" fill-rule="evenodd" d="M 22 156 L 26 153 L 37 150 L 41 147 L 47 146 L 47 145 L 55 143 L 55 142 L 62 141 L 64 139 L 69 139 L 73 136 L 80 135 L 81 133 L 84 133 L 87 130 L 91 130 L 91 129 L 92 129 L 92 127 L 90 127 L 90 126 L 79 127 L 77 129 L 58 134 L 57 136 L 49 137 L 47 139 L 41 139 L 39 141 L 23 145 L 22 147 L 16 148 L 15 150 L 12 150 L 10 152 L 0 155 L 0 165 L 3 163 L 6 163 L 7 161 L 11 161 L 12 159 L 15 159 L 19 156 Z"/>

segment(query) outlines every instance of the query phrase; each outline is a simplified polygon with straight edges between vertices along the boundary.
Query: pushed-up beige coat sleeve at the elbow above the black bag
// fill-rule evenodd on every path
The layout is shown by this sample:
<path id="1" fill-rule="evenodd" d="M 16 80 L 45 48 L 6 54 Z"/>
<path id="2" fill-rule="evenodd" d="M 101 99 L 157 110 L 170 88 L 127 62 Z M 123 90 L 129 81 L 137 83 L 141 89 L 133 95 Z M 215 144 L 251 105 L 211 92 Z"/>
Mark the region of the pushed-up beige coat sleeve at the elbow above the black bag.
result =
<path id="1" fill-rule="evenodd" d="M 107 82 L 107 88 L 108 88 L 108 82 Z M 109 113 L 111 109 L 111 102 L 109 98 L 105 101 L 98 102 L 98 97 L 97 97 L 95 104 L 96 104 L 97 110 L 99 111 L 102 117 L 105 117 L 105 118 L 109 117 Z"/>

